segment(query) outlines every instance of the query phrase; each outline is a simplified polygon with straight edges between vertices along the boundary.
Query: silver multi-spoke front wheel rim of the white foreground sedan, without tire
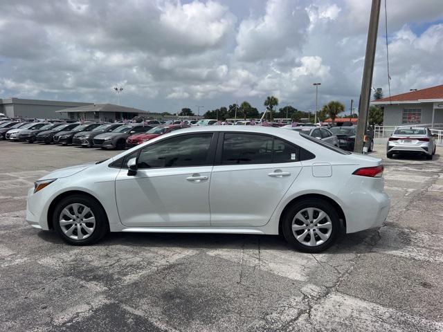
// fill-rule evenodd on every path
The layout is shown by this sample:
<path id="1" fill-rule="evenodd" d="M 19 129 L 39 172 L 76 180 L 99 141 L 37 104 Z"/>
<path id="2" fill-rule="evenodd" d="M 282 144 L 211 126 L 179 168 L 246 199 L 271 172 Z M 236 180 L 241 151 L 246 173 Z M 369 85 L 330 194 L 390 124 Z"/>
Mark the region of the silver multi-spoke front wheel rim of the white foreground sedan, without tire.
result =
<path id="1" fill-rule="evenodd" d="M 67 237 L 84 240 L 96 229 L 96 217 L 86 205 L 73 203 L 67 205 L 60 213 L 60 228 Z"/>

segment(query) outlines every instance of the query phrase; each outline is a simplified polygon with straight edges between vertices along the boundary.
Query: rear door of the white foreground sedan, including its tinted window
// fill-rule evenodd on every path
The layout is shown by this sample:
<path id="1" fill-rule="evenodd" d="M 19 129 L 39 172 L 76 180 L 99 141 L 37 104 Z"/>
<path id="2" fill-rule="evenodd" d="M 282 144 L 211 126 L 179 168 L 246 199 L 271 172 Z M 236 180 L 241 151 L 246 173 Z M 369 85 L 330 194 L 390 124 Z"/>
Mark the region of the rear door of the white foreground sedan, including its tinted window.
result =
<path id="1" fill-rule="evenodd" d="M 261 226 L 301 170 L 300 148 L 273 136 L 221 133 L 210 180 L 213 226 Z"/>

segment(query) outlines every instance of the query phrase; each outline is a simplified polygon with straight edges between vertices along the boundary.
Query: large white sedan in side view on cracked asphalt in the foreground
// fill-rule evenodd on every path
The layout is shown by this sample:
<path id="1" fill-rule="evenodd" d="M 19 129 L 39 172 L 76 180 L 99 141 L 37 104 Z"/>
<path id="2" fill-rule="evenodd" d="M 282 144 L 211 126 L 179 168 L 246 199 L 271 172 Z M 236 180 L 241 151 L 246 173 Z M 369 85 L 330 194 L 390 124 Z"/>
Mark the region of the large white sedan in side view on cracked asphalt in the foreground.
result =
<path id="1" fill-rule="evenodd" d="M 341 231 L 379 227 L 390 199 L 381 159 L 273 127 L 159 136 L 40 178 L 26 220 L 87 245 L 111 232 L 279 234 L 320 252 Z"/>

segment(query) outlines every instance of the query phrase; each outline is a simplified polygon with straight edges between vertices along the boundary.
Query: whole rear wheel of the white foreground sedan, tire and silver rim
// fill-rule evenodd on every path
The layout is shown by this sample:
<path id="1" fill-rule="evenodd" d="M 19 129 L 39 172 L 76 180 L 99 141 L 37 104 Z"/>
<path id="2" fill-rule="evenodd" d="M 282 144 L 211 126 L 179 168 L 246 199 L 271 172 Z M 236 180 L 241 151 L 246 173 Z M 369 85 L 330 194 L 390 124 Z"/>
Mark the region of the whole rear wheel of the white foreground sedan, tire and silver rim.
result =
<path id="1" fill-rule="evenodd" d="M 303 252 L 321 252 L 336 241 L 340 220 L 335 208 L 322 199 L 297 202 L 284 214 L 282 231 L 286 241 Z"/>

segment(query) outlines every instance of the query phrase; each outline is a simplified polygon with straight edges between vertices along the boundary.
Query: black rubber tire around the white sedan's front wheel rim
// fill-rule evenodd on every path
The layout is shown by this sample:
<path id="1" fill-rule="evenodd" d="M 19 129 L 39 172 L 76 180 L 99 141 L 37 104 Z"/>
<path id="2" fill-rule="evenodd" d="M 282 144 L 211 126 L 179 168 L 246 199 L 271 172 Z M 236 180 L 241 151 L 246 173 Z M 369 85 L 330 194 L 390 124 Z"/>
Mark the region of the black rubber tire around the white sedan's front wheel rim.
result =
<path id="1" fill-rule="evenodd" d="M 91 209 L 91 212 L 93 216 L 95 217 L 96 224 L 95 228 L 93 229 L 93 232 L 89 234 L 89 236 L 86 239 L 72 239 L 71 237 L 67 236 L 64 233 L 64 230 L 62 230 L 62 226 L 60 225 L 60 215 L 62 214 L 62 211 L 64 208 L 68 207 L 71 204 L 79 203 L 87 208 Z M 77 224 L 75 224 L 77 225 Z M 86 225 L 86 223 L 85 223 Z M 72 244 L 74 246 L 88 246 L 93 243 L 96 243 L 102 237 L 109 232 L 109 222 L 106 216 L 105 210 L 102 208 L 102 205 L 98 203 L 95 199 L 91 199 L 91 197 L 81 194 L 75 194 L 72 196 L 68 196 L 59 203 L 57 203 L 57 206 L 54 209 L 53 214 L 53 226 L 54 229 L 57 231 L 57 233 L 60 235 L 60 237 L 65 241 L 66 243 Z M 68 227 L 68 226 L 66 226 Z M 84 230 L 80 230 L 82 234 L 87 234 Z M 73 232 L 77 234 L 78 230 L 74 228 Z M 75 236 L 75 234 L 73 234 Z M 83 237 L 84 235 L 82 235 Z"/>

